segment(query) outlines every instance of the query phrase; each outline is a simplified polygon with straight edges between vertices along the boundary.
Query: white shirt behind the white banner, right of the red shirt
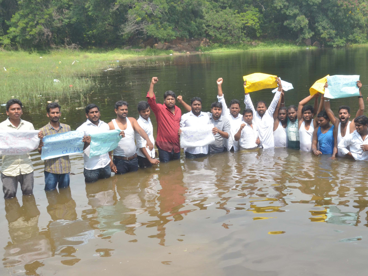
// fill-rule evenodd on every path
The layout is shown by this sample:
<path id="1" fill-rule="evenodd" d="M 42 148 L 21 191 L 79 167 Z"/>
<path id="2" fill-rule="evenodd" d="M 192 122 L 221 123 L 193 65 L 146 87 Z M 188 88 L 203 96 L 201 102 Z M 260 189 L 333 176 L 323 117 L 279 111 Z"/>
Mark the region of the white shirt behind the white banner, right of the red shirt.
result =
<path id="1" fill-rule="evenodd" d="M 206 112 L 201 112 L 199 116 L 195 116 L 193 112 L 185 113 L 181 116 L 180 119 L 180 127 L 197 127 L 201 128 L 202 125 L 209 124 L 209 117 Z M 184 148 L 184 152 L 189 152 L 191 154 L 198 153 L 208 153 L 208 145 L 207 146 L 198 146 L 195 148 Z"/>

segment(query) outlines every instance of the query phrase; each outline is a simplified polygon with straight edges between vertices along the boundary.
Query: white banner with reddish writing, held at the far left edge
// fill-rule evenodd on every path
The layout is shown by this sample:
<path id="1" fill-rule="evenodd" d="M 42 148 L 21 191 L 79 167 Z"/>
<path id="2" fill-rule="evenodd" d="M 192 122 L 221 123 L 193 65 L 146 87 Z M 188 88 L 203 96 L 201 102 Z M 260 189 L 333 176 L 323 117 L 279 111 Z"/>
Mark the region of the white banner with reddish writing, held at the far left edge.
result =
<path id="1" fill-rule="evenodd" d="M 38 148 L 38 130 L 1 131 L 0 155 L 24 155 Z"/>

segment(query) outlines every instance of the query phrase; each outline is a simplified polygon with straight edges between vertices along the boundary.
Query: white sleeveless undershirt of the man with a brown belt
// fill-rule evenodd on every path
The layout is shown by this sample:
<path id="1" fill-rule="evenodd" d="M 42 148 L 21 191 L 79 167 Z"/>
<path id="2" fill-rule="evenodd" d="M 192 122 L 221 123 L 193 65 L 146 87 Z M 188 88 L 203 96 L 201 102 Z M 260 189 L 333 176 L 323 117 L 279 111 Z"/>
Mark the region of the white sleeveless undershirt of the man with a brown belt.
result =
<path id="1" fill-rule="evenodd" d="M 116 120 L 112 120 L 114 124 L 114 128 L 116 130 L 120 129 L 116 123 Z M 114 149 L 114 155 L 130 157 L 135 154 L 135 142 L 134 142 L 134 130 L 130 123 L 130 120 L 127 118 L 127 128 L 124 130 L 125 137 L 121 138 L 119 144 L 116 149 Z"/>

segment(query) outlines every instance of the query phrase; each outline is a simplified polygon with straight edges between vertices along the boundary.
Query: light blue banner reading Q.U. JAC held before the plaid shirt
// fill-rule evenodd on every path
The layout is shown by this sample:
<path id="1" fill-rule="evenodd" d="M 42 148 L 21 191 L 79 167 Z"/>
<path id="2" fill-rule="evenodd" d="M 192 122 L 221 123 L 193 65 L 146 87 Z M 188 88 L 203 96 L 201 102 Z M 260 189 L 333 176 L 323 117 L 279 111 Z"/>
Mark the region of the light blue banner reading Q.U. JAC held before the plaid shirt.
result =
<path id="1" fill-rule="evenodd" d="M 43 137 L 41 160 L 83 152 L 83 131 L 68 131 Z"/>

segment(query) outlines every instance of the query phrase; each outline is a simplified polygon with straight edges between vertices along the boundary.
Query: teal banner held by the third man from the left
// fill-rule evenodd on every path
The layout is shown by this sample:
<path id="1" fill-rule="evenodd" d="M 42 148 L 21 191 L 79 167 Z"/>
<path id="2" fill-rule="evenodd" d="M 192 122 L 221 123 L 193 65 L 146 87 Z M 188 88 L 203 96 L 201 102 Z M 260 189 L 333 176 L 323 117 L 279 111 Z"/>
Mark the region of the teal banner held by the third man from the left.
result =
<path id="1" fill-rule="evenodd" d="M 117 147 L 120 139 L 122 138 L 119 133 L 120 130 L 109 130 L 105 132 L 91 134 L 89 155 L 88 152 L 85 151 L 85 153 L 89 157 L 92 157 L 112 151 Z"/>

